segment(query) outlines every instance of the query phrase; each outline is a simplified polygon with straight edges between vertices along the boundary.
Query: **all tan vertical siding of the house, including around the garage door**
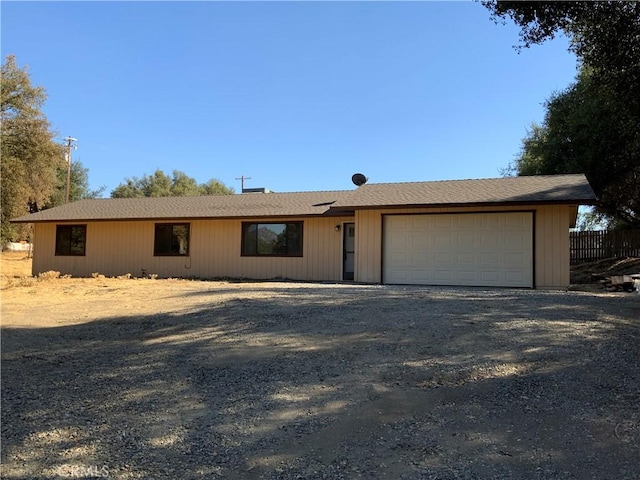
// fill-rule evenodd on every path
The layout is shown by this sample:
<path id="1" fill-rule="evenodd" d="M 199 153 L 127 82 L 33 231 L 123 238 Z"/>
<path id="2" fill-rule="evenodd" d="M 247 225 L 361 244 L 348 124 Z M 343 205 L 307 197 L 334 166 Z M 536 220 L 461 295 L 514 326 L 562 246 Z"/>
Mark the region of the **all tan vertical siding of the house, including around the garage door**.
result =
<path id="1" fill-rule="evenodd" d="M 300 218 L 193 220 L 188 257 L 154 256 L 154 221 L 87 222 L 86 255 L 56 256 L 56 224 L 35 224 L 33 273 L 56 270 L 88 277 L 130 273 L 160 277 L 290 278 L 340 281 L 342 232 L 335 226 L 355 222 L 355 281 L 382 281 L 382 217 L 407 213 L 534 212 L 534 277 L 536 288 L 569 285 L 569 227 L 575 206 L 519 205 L 512 207 L 405 208 L 359 210 L 354 217 L 305 217 L 302 257 L 242 257 L 242 222 L 285 222 Z M 176 220 L 184 223 L 185 220 Z M 68 222 L 78 224 L 84 222 Z M 58 223 L 64 224 L 64 223 Z"/>

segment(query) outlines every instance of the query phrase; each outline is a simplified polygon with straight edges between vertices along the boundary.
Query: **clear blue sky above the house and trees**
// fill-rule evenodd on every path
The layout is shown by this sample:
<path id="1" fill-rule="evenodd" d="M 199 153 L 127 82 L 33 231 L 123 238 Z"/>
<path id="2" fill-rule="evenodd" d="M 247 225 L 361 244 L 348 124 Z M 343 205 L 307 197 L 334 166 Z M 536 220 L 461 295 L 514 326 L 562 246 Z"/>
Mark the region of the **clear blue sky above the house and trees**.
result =
<path id="1" fill-rule="evenodd" d="M 12 2 L 2 57 L 105 196 L 156 168 L 240 191 L 500 176 L 576 73 L 473 2 Z"/>

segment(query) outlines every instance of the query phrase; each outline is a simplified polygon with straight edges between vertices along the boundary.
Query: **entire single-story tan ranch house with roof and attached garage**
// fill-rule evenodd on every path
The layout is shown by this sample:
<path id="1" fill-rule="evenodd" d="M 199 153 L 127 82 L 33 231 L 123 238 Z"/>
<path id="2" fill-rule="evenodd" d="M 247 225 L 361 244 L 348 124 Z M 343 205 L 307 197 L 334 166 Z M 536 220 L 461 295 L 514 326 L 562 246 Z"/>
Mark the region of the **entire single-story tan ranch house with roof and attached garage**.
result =
<path id="1" fill-rule="evenodd" d="M 33 273 L 565 288 L 584 175 L 81 200 L 34 225 Z"/>

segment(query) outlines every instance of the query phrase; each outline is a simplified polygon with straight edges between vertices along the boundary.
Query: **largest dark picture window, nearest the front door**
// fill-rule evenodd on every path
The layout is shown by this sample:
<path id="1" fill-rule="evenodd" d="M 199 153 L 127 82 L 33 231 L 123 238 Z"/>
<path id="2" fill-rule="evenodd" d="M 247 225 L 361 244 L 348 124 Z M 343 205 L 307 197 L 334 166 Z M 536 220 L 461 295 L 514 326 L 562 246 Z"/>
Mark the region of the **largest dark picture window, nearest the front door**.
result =
<path id="1" fill-rule="evenodd" d="M 302 256 L 302 222 L 242 224 L 242 255 Z"/>

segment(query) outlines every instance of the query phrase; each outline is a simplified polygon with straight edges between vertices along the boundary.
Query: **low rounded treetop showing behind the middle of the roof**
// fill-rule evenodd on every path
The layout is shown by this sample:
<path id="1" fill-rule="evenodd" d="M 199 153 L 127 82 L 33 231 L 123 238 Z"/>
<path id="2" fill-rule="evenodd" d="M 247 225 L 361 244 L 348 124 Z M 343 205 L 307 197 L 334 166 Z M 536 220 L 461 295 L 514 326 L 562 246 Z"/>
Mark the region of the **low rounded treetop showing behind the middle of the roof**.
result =
<path id="1" fill-rule="evenodd" d="M 198 182 L 180 170 L 174 170 L 168 176 L 162 170 L 156 170 L 152 175 L 141 178 L 126 178 L 112 192 L 112 198 L 137 197 L 187 197 L 197 195 L 229 195 L 234 193 L 232 188 L 215 178 L 206 183 Z"/>

